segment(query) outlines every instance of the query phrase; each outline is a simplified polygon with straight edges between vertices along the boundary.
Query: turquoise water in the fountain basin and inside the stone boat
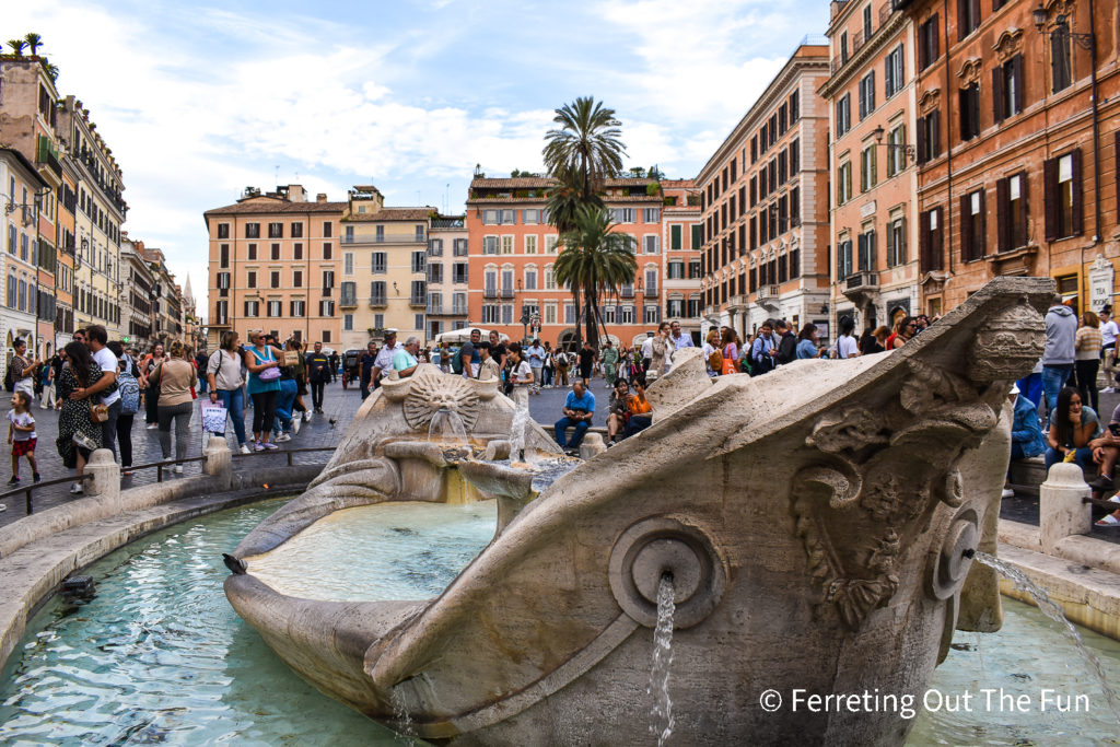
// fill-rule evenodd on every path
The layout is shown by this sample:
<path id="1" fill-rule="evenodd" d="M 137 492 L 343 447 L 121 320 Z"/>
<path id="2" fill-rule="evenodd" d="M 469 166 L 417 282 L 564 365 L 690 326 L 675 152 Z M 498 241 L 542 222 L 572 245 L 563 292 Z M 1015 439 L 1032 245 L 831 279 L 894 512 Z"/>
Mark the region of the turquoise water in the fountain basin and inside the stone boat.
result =
<path id="1" fill-rule="evenodd" d="M 97 582 L 90 603 L 50 600 L 0 679 L 0 744 L 400 745 L 401 737 L 302 682 L 226 603 L 221 553 L 280 505 L 273 501 L 233 508 L 148 536 L 88 569 Z M 432 508 L 437 511 L 428 513 Z M 488 504 L 395 504 L 381 513 L 362 521 L 388 526 L 379 540 L 382 547 L 395 539 L 396 550 L 447 550 L 447 557 L 427 558 L 419 573 L 396 566 L 412 581 L 391 579 L 391 592 L 413 599 L 450 582 L 488 541 L 494 525 Z M 426 535 L 436 534 L 438 542 L 424 544 Z M 374 557 L 382 563 L 380 552 Z M 363 578 L 374 589 L 381 582 L 368 572 Z M 920 707 L 908 744 L 1117 744 L 1103 693 L 1086 676 L 1062 629 L 1034 607 L 1005 605 L 1004 631 L 958 633 L 954 651 L 930 688 L 949 697 L 1002 689 L 1032 697 L 1035 707 L 1024 712 L 989 711 L 976 701 L 971 711 Z M 1081 635 L 1101 660 L 1104 675 L 1120 681 L 1120 643 L 1084 629 Z M 666 681 L 671 697 L 673 680 Z M 1040 712 L 1043 689 L 1086 693 L 1091 709 Z M 672 736 L 666 744 L 674 744 Z"/>

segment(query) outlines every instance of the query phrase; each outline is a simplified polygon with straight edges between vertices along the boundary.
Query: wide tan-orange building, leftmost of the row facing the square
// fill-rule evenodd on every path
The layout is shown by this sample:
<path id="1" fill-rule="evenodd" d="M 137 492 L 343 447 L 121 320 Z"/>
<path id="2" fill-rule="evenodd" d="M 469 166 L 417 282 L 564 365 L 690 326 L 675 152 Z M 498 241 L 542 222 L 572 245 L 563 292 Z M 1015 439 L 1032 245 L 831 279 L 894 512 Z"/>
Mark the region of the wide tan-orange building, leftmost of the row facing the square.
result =
<path id="1" fill-rule="evenodd" d="M 235 204 L 206 211 L 211 349 L 226 329 L 242 339 L 263 329 L 339 347 L 338 227 L 347 208 L 288 185 L 268 194 L 249 188 Z"/>

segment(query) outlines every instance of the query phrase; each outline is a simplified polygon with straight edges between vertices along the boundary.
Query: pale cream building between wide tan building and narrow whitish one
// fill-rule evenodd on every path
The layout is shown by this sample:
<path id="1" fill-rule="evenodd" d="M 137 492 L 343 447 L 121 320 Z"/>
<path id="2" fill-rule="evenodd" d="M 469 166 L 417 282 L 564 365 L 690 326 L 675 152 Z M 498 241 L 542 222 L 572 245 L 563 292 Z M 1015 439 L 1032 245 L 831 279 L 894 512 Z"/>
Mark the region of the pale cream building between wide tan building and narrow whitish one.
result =
<path id="1" fill-rule="evenodd" d="M 349 190 L 339 218 L 340 347 L 364 347 L 383 329 L 427 338 L 428 232 L 433 207 L 385 207 L 372 185 Z"/>

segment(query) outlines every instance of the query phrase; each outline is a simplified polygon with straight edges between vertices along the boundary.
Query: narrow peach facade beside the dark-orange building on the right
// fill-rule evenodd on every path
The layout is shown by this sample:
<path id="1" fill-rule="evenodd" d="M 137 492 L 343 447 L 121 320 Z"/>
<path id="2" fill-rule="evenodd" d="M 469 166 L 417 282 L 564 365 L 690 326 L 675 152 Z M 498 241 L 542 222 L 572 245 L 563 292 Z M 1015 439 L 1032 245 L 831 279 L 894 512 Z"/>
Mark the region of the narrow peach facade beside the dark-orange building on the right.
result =
<path id="1" fill-rule="evenodd" d="M 833 323 L 890 325 L 918 308 L 911 18 L 890 0 L 832 3 L 829 106 Z"/>

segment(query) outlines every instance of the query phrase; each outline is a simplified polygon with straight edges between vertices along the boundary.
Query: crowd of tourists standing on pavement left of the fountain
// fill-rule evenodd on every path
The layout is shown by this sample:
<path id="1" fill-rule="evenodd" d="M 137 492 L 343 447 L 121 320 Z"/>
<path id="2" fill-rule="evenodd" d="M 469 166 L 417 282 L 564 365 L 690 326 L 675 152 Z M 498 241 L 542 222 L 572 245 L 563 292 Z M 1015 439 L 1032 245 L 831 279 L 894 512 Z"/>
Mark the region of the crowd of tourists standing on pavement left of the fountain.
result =
<path id="1" fill-rule="evenodd" d="M 19 485 L 20 461 L 26 459 L 31 480 L 38 483 L 38 445 L 34 403 L 58 411 L 55 448 L 77 478 L 69 488 L 84 493 L 82 475 L 91 454 L 109 449 L 122 476 L 132 475 L 132 431 L 136 417 L 156 431 L 162 458 L 174 461 L 176 474 L 194 439 L 204 432 L 224 436 L 228 423 L 242 454 L 274 450 L 291 440 L 300 423 L 323 413 L 324 391 L 337 377 L 338 356 L 323 352 L 323 344 L 305 352 L 299 340 L 283 345 L 263 333 L 251 333 L 242 345 L 235 332 L 225 332 L 221 346 L 207 355 L 180 340 L 155 344 L 147 354 L 110 340 L 104 327 L 93 325 L 74 333 L 74 339 L 46 361 L 15 342 L 4 385 L 12 392 L 8 412 L 11 477 Z M 310 398 L 310 405 L 305 398 Z M 208 402 L 206 399 L 208 398 Z M 200 429 L 192 429 L 195 402 L 202 399 Z M 251 431 L 246 431 L 252 409 Z M 174 439 L 172 439 L 174 432 Z M 251 436 L 251 438 L 250 438 Z M 172 454 L 174 440 L 174 454 Z"/>

